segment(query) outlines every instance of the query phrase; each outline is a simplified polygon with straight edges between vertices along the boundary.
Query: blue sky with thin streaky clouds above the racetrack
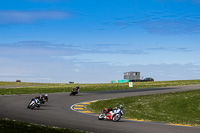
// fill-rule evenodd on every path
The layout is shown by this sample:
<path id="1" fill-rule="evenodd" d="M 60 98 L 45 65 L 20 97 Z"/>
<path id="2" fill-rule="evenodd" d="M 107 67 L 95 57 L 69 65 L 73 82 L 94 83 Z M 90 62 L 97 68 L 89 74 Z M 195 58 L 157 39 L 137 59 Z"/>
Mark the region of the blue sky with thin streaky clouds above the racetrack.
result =
<path id="1" fill-rule="evenodd" d="M 200 79 L 200 0 L 1 0 L 0 81 Z"/>

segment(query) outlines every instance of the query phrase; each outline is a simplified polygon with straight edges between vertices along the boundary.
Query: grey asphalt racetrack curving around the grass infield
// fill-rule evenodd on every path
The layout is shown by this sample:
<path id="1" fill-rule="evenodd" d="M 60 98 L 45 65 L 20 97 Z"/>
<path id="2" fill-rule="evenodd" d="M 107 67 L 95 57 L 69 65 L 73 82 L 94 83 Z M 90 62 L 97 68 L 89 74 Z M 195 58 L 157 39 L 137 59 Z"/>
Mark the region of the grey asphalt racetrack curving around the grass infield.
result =
<path id="1" fill-rule="evenodd" d="M 99 133 L 199 133 L 199 127 L 182 127 L 164 123 L 127 120 L 120 120 L 119 122 L 99 121 L 97 116 L 78 113 L 70 109 L 73 104 L 84 101 L 194 89 L 200 89 L 200 85 L 89 93 L 80 92 L 77 96 L 69 96 L 69 93 L 54 93 L 49 94 L 49 102 L 34 110 L 27 109 L 26 107 L 31 98 L 38 96 L 38 94 L 0 96 L 0 118 Z"/>

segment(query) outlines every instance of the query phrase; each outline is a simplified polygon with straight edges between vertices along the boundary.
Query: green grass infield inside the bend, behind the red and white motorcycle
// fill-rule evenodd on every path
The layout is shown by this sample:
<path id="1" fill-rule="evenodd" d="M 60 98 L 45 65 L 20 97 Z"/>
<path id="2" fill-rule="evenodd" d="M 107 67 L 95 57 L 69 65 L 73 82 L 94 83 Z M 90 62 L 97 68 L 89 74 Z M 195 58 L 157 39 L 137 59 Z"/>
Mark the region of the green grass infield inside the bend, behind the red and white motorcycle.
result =
<path id="1" fill-rule="evenodd" d="M 102 100 L 87 109 L 100 113 L 120 104 L 125 118 L 200 126 L 200 90 Z"/>

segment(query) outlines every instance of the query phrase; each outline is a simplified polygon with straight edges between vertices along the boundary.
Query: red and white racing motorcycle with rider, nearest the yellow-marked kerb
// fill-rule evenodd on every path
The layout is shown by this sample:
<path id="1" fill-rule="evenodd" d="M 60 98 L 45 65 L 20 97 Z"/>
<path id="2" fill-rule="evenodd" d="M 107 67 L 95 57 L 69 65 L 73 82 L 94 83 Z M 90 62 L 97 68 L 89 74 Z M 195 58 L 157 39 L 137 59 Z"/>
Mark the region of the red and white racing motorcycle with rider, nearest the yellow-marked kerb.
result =
<path id="1" fill-rule="evenodd" d="M 117 122 L 121 119 L 121 116 L 123 115 L 122 107 L 117 107 L 115 109 L 107 109 L 105 108 L 101 114 L 98 116 L 99 120 L 112 120 L 114 122 Z"/>

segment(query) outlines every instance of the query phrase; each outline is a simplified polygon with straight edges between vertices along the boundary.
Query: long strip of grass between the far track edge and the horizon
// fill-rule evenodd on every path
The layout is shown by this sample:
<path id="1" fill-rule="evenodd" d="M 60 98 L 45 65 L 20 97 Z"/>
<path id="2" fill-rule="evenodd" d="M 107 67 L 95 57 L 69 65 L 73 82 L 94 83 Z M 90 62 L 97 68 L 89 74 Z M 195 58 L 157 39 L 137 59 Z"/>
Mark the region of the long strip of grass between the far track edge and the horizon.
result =
<path id="1" fill-rule="evenodd" d="M 102 90 L 124 90 L 124 89 L 139 89 L 139 88 L 169 87 L 169 86 L 184 86 L 184 85 L 195 85 L 195 84 L 200 84 L 200 80 L 134 82 L 132 88 L 129 88 L 128 83 L 79 84 L 79 86 L 80 86 L 80 92 L 86 92 L 86 91 L 102 91 Z M 0 86 L 11 86 L 11 85 L 19 87 L 4 88 L 4 89 L 0 88 L 0 95 L 70 92 L 72 88 L 77 86 L 78 84 L 0 82 Z M 20 87 L 21 85 L 37 85 L 37 86 Z"/>

